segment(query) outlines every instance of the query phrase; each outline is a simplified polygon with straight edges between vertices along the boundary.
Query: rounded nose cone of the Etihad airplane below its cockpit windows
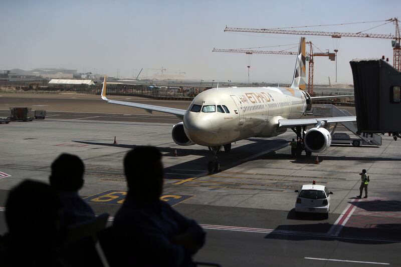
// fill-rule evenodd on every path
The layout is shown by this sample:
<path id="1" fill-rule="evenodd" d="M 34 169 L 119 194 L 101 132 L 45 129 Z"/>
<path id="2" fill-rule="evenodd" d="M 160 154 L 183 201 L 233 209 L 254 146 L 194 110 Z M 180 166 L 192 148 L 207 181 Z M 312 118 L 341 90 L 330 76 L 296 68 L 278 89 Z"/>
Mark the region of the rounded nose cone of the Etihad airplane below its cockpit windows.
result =
<path id="1" fill-rule="evenodd" d="M 212 122 L 204 116 L 186 115 L 183 122 L 188 138 L 195 144 L 211 146 L 216 139 L 216 131 Z"/>

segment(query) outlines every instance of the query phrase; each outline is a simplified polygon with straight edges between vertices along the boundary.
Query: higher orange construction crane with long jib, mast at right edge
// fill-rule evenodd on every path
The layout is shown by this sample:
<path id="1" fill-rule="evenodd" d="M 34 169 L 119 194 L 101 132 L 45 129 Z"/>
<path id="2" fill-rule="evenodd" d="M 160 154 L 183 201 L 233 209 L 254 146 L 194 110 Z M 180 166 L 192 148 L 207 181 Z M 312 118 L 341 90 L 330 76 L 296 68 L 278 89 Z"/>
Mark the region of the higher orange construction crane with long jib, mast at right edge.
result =
<path id="1" fill-rule="evenodd" d="M 338 32 L 318 32 L 318 31 L 294 31 L 280 29 L 252 29 L 252 28 L 229 28 L 226 26 L 225 32 L 246 32 L 246 33 L 265 33 L 265 34 L 295 34 L 295 35 L 319 35 L 331 36 L 332 38 L 341 37 L 363 37 L 363 38 L 381 38 L 393 39 L 391 42 L 393 50 L 393 67 L 401 72 L 401 35 L 398 26 L 398 19 L 391 18 L 385 20 L 385 24 L 392 22 L 395 25 L 395 35 L 386 34 L 365 34 L 365 33 L 338 33 Z"/>

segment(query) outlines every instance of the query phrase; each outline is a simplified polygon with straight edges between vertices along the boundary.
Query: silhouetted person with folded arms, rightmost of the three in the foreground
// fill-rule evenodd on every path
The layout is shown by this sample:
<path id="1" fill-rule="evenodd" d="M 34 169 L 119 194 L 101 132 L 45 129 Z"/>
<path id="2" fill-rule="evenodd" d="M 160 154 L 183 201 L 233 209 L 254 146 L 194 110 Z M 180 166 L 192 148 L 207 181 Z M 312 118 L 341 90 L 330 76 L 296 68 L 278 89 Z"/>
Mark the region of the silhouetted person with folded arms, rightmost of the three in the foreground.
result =
<path id="1" fill-rule="evenodd" d="M 126 154 L 124 171 L 128 194 L 113 224 L 115 235 L 125 244 L 119 263 L 191 266 L 191 256 L 204 245 L 206 233 L 160 200 L 161 153 L 155 147 L 137 147 Z"/>

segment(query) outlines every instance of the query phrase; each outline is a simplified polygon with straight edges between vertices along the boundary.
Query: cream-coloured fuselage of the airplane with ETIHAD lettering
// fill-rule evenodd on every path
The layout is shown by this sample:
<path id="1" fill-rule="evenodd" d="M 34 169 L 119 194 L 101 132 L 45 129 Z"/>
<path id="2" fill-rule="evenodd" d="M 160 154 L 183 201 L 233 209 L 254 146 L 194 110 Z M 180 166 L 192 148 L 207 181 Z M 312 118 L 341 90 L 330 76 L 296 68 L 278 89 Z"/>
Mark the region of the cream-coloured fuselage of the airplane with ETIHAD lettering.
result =
<path id="1" fill-rule="evenodd" d="M 184 131 L 193 143 L 204 146 L 277 136 L 286 131 L 278 128 L 280 119 L 298 119 L 304 114 L 306 96 L 288 87 L 210 89 L 197 95 L 186 110 Z"/>

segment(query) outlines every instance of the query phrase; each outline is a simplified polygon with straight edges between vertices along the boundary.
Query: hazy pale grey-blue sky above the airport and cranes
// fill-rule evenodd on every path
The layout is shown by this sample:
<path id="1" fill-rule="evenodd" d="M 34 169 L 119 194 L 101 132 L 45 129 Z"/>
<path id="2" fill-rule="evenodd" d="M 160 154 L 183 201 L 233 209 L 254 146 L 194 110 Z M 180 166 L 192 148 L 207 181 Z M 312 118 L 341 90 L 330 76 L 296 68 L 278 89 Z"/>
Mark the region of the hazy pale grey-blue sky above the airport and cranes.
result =
<path id="1" fill-rule="evenodd" d="M 224 32 L 228 27 L 279 28 L 399 17 L 401 1 L 8 1 L 0 3 L 0 69 L 72 68 L 110 76 L 185 72 L 186 78 L 290 83 L 295 56 L 217 53 L 213 48 L 297 44 L 300 36 Z M 304 28 L 360 32 L 382 23 Z M 392 23 L 365 33 L 394 34 Z M 337 82 L 352 84 L 349 61 L 392 64 L 391 40 L 306 36 L 322 51 L 338 49 Z M 296 46 L 296 45 L 294 45 Z M 282 50 L 293 46 L 264 48 Z M 296 48 L 290 50 L 296 51 Z M 316 51 L 316 50 L 315 50 Z M 149 74 L 154 71 L 149 70 Z M 315 58 L 315 83 L 335 80 L 335 63 Z"/>

